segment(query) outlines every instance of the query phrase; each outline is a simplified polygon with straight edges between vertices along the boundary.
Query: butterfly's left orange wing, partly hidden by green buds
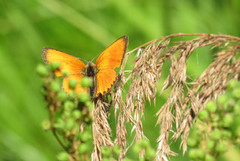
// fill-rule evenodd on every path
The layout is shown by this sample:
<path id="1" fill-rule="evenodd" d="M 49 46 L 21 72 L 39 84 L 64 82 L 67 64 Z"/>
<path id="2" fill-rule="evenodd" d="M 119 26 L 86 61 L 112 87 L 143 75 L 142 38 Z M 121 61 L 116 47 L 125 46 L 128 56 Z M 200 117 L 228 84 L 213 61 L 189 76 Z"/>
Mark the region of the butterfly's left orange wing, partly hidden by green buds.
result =
<path id="1" fill-rule="evenodd" d="M 63 80 L 63 89 L 69 93 L 71 89 L 69 88 L 69 80 L 75 79 L 78 82 L 84 77 L 82 74 L 85 64 L 79 60 L 78 58 L 71 56 L 69 54 L 63 53 L 61 51 L 51 49 L 51 48 L 43 48 L 43 59 L 45 63 L 51 64 L 53 62 L 59 62 L 60 68 L 55 71 L 56 76 L 63 76 L 62 70 L 67 70 L 69 72 L 69 77 L 64 78 Z M 80 93 L 84 89 L 78 83 L 75 88 L 77 93 Z"/>

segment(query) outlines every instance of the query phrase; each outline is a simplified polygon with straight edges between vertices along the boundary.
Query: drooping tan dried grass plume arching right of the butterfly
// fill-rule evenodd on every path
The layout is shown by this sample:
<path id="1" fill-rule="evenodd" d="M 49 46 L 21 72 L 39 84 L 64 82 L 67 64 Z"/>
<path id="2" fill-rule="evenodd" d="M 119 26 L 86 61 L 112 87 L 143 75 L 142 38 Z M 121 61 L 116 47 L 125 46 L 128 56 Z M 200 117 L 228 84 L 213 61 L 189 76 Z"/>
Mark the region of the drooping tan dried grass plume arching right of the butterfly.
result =
<path id="1" fill-rule="evenodd" d="M 172 39 L 182 36 L 195 36 L 196 38 L 188 41 L 173 41 Z M 173 44 L 172 42 L 174 45 L 170 45 Z M 219 51 L 215 54 L 212 64 L 198 78 L 191 80 L 186 72 L 187 60 L 196 49 L 205 46 L 211 46 L 212 49 L 218 48 Z M 171 67 L 161 91 L 170 88 L 171 92 L 156 114 L 157 125 L 160 126 L 155 158 L 157 161 L 166 161 L 169 155 L 176 155 L 169 146 L 169 134 L 174 132 L 173 129 L 176 129 L 173 139 L 181 137 L 181 145 L 185 152 L 187 150 L 186 140 L 198 112 L 204 108 L 207 101 L 216 99 L 219 94 L 223 93 L 231 79 L 240 79 L 240 58 L 236 57 L 239 49 L 240 38 L 237 37 L 213 34 L 175 34 L 153 40 L 126 53 L 115 90 L 112 92 L 115 116 L 118 120 L 115 144 L 123 149 L 118 159 L 123 160 L 129 148 L 126 146 L 125 124 L 127 122 L 133 124 L 132 131 L 135 131 L 133 142 L 145 138 L 142 126 L 145 102 L 146 100 L 156 102 L 156 83 L 162 76 L 164 63 L 170 62 Z M 134 68 L 130 72 L 125 71 L 128 57 L 135 51 L 138 52 Z M 126 98 L 123 98 L 122 89 L 126 83 L 130 83 L 130 87 Z M 101 160 L 99 154 L 102 145 L 113 146 L 110 138 L 111 129 L 104 111 L 105 104 L 101 100 L 97 101 L 94 110 L 95 150 L 93 158 L 98 160 Z M 173 128 L 173 123 L 176 125 L 175 128 Z M 139 155 L 144 156 L 144 151 Z"/>

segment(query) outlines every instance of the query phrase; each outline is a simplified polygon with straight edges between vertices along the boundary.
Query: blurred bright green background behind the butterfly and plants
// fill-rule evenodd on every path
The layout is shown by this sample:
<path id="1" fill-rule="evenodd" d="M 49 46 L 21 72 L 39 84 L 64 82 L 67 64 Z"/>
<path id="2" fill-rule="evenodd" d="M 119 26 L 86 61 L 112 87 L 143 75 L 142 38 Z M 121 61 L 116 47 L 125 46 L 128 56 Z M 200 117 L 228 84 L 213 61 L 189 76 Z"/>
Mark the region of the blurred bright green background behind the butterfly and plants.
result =
<path id="1" fill-rule="evenodd" d="M 43 47 L 91 60 L 123 35 L 128 51 L 173 33 L 239 37 L 239 16 L 240 0 L 0 0 L 0 161 L 54 161 L 62 150 L 41 128 L 48 113 L 35 67 L 43 63 Z M 211 53 L 200 51 L 188 72 L 198 75 L 211 61 Z M 154 114 L 165 99 L 148 105 L 143 119 L 153 147 L 159 135 Z"/>

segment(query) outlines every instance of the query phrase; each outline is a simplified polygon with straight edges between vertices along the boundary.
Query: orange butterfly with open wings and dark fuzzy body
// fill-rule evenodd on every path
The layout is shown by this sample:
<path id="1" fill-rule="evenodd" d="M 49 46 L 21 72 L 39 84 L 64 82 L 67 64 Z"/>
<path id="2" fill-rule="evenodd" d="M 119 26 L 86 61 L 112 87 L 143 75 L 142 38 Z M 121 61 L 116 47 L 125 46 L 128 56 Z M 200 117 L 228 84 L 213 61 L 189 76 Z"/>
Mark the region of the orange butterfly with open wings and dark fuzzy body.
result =
<path id="1" fill-rule="evenodd" d="M 69 71 L 69 76 L 63 79 L 63 89 L 67 93 L 71 91 L 69 80 L 75 79 L 80 82 L 83 77 L 90 77 L 93 85 L 90 87 L 89 93 L 91 98 L 95 98 L 100 94 L 103 95 L 113 86 L 117 78 L 114 68 L 122 64 L 127 45 L 127 36 L 119 38 L 101 53 L 96 64 L 89 62 L 85 65 L 78 58 L 51 48 L 43 48 L 43 59 L 47 64 L 53 62 L 61 64 L 59 70 L 55 72 L 56 76 L 63 76 L 62 70 Z M 81 93 L 83 90 L 84 88 L 78 83 L 75 91 Z"/>

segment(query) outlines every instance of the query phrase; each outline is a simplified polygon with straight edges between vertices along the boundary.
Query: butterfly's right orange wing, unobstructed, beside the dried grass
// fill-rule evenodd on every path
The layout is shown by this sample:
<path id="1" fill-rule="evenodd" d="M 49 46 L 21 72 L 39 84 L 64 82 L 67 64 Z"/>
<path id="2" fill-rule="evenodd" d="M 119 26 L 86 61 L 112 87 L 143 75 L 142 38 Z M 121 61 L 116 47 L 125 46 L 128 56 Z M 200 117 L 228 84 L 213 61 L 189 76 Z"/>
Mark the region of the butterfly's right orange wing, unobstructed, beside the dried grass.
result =
<path id="1" fill-rule="evenodd" d="M 116 81 L 117 73 L 114 68 L 122 64 L 123 56 L 128 45 L 128 37 L 123 36 L 106 48 L 96 60 L 97 91 L 96 96 L 107 92 Z"/>

